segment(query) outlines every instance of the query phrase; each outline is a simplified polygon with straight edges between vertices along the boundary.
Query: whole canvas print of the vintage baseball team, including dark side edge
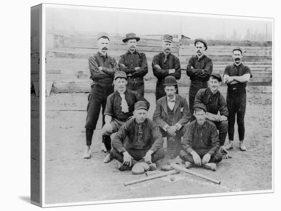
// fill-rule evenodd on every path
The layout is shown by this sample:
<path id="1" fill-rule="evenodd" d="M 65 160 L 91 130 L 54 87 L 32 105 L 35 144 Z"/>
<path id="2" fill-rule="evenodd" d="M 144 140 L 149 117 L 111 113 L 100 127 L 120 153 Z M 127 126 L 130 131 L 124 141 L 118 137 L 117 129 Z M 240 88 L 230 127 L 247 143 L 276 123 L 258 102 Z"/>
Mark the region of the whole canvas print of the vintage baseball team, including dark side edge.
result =
<path id="1" fill-rule="evenodd" d="M 272 193 L 273 30 L 269 17 L 31 8 L 32 203 Z"/>

